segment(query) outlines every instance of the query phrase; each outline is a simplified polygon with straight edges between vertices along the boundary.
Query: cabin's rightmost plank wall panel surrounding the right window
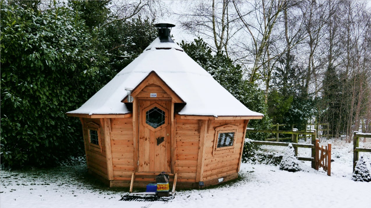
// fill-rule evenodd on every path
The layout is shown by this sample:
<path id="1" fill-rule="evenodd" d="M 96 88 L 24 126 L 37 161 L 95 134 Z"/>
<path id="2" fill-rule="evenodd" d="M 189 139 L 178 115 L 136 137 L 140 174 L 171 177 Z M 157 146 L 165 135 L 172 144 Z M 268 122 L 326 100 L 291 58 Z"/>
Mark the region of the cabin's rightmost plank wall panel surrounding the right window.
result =
<path id="1" fill-rule="evenodd" d="M 237 173 L 240 162 L 240 153 L 242 149 L 242 140 L 244 140 L 244 120 L 233 121 L 209 121 L 211 122 L 205 141 L 205 158 L 203 167 L 202 181 L 209 181 L 229 174 Z M 237 135 L 234 140 L 233 150 L 218 151 L 213 156 L 215 128 L 232 124 L 238 127 Z"/>

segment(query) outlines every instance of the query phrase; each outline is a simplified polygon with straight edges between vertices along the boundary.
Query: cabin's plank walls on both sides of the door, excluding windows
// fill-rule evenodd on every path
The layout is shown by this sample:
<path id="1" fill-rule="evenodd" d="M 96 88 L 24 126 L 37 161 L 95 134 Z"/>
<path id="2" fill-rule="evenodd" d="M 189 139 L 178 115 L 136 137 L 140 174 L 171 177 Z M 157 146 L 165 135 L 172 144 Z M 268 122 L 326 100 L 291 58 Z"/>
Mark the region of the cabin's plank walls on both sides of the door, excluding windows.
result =
<path id="1" fill-rule="evenodd" d="M 134 162 L 134 139 L 132 118 L 108 118 L 108 121 L 83 118 L 84 141 L 89 171 L 109 179 L 107 169 L 105 139 L 110 140 L 112 152 L 112 186 L 127 186 L 131 180 L 132 172 L 135 171 Z M 101 149 L 89 148 L 87 123 L 93 122 L 100 126 Z M 102 123 L 103 122 L 103 123 Z M 174 172 L 178 173 L 178 188 L 197 188 L 198 181 L 204 181 L 205 185 L 217 184 L 218 178 L 224 181 L 237 178 L 242 140 L 244 140 L 245 120 L 191 120 L 177 118 L 175 124 L 175 162 Z M 104 127 L 109 124 L 110 127 Z M 233 148 L 215 151 L 217 142 L 216 128 L 223 125 L 234 125 L 237 133 L 234 137 Z M 109 134 L 105 134 L 110 131 Z M 105 138 L 108 135 L 110 138 Z M 201 136 L 202 135 L 202 136 Z M 202 138 L 203 144 L 200 143 Z M 202 148 L 201 148 L 202 147 Z M 214 152 L 213 152 L 214 151 Z M 111 154 L 111 152 L 107 152 Z M 199 167 L 200 166 L 200 167 Z M 172 181 L 173 178 L 171 178 Z M 154 182 L 154 175 L 135 175 L 136 183 L 143 181 Z M 183 184 L 183 185 L 182 185 Z"/>

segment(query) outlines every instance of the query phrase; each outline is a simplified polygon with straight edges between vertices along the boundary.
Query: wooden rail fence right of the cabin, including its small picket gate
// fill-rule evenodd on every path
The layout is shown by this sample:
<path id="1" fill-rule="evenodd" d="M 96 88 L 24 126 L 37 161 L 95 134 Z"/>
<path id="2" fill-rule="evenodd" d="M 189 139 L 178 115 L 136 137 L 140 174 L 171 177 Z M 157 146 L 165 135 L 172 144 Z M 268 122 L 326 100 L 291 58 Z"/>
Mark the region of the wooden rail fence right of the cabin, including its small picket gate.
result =
<path id="1" fill-rule="evenodd" d="M 331 144 L 329 143 L 327 146 L 322 145 L 319 147 L 319 139 L 316 138 L 316 130 L 314 131 L 277 131 L 277 130 L 255 130 L 248 128 L 247 132 L 263 132 L 263 133 L 279 133 L 279 134 L 292 134 L 296 135 L 295 142 L 291 143 L 292 147 L 295 150 L 295 156 L 298 160 L 302 161 L 312 161 L 312 168 L 318 170 L 319 168 L 323 168 L 324 171 L 327 171 L 327 175 L 331 175 Z M 311 135 L 312 137 L 312 144 L 298 144 L 298 135 L 299 134 L 306 134 Z M 288 146 L 289 143 L 279 142 L 279 141 L 252 141 L 256 145 L 273 145 L 273 146 Z M 298 157 L 298 147 L 301 148 L 311 148 L 312 157 Z"/>

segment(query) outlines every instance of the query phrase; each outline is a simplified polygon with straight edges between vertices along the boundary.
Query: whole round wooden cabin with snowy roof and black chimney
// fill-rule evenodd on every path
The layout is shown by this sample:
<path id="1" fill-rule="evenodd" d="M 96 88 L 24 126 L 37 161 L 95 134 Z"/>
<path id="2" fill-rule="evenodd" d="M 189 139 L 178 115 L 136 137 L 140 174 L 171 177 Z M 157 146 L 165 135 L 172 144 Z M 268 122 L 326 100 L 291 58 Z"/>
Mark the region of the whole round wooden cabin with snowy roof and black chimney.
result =
<path id="1" fill-rule="evenodd" d="M 170 38 L 173 24 L 85 104 L 79 117 L 91 174 L 109 187 L 144 187 L 161 171 L 177 188 L 237 178 L 246 108 Z"/>

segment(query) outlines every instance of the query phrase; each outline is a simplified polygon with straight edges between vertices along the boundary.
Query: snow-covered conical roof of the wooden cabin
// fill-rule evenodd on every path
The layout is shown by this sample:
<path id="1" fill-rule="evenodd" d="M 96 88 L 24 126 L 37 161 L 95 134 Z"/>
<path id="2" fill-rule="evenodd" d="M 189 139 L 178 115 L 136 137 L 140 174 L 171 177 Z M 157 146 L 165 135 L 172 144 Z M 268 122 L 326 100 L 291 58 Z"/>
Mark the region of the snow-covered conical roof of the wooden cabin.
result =
<path id="1" fill-rule="evenodd" d="M 170 48 L 170 49 L 164 49 Z M 156 38 L 85 104 L 70 114 L 126 114 L 125 88 L 135 88 L 155 73 L 186 103 L 180 115 L 263 116 L 246 108 L 176 43 Z"/>

